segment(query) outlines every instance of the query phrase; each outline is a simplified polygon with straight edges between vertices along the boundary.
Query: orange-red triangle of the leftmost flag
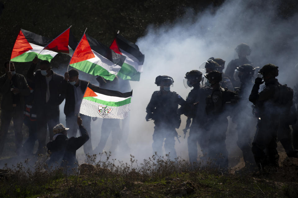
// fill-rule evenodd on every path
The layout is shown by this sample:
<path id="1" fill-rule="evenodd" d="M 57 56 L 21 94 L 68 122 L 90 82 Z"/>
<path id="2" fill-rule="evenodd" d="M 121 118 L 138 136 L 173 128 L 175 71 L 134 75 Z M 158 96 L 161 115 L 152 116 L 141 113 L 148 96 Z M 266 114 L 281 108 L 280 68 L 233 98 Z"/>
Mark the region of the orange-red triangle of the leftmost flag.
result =
<path id="1" fill-rule="evenodd" d="M 10 59 L 20 56 L 21 54 L 24 54 L 26 51 L 28 51 L 30 49 L 33 49 L 33 48 L 27 41 L 22 30 L 20 30 L 18 37 L 16 38 L 15 45 L 13 46 Z"/>

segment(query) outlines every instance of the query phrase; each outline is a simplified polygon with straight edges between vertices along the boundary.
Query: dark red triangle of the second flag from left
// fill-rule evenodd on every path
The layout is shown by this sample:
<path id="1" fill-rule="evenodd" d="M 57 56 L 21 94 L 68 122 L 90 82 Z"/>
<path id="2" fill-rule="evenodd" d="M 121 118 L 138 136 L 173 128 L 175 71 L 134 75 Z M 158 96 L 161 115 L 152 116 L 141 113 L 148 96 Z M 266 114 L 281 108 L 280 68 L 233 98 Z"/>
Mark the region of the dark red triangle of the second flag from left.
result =
<path id="1" fill-rule="evenodd" d="M 52 50 L 54 52 L 69 53 L 68 42 L 69 42 L 70 28 L 62 32 L 57 38 L 51 41 L 44 49 Z"/>

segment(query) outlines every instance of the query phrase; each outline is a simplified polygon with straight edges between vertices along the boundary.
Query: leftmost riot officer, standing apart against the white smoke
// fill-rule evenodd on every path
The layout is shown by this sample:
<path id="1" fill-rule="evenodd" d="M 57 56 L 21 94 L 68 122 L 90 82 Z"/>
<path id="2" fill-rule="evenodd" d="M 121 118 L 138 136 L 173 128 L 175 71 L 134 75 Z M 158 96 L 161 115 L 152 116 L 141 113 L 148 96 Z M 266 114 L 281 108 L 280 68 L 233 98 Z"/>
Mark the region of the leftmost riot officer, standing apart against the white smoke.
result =
<path id="1" fill-rule="evenodd" d="M 165 139 L 165 153 L 170 153 L 171 159 L 177 157 L 174 137 L 178 138 L 175 128 L 179 128 L 181 123 L 178 105 L 184 105 L 185 103 L 179 94 L 170 91 L 173 83 L 174 80 L 170 76 L 157 76 L 155 84 L 160 86 L 160 90 L 153 92 L 146 108 L 146 120 L 153 119 L 155 124 L 152 143 L 153 152 L 163 154 L 162 145 Z"/>

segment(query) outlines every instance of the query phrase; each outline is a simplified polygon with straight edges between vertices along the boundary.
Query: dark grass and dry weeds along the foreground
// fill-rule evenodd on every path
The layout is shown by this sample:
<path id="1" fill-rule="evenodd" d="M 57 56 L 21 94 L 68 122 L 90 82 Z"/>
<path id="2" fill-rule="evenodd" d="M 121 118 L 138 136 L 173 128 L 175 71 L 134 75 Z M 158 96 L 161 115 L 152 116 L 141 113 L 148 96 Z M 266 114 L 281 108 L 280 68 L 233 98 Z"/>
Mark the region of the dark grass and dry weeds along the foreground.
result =
<path id="1" fill-rule="evenodd" d="M 111 153 L 88 156 L 72 173 L 49 169 L 42 160 L 34 167 L 27 161 L 9 168 L 0 177 L 0 197 L 296 197 L 297 165 L 266 176 L 223 173 L 212 167 L 189 164 L 169 156 L 138 163 L 111 159 Z M 295 161 L 294 161 L 295 162 Z M 290 166 L 291 167 L 291 166 Z M 232 171 L 230 171 L 232 172 Z M 290 180 L 287 179 L 290 178 Z"/>

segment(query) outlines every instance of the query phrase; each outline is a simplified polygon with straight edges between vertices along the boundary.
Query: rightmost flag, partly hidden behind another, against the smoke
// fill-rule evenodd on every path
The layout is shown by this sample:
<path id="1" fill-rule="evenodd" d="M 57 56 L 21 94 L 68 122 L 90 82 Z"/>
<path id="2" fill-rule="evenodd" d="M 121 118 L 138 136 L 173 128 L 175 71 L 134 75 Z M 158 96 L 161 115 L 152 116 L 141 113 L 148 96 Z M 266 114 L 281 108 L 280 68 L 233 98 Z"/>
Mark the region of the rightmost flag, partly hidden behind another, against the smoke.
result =
<path id="1" fill-rule="evenodd" d="M 139 81 L 143 72 L 144 54 L 140 52 L 138 45 L 117 34 L 110 48 L 117 54 L 126 56 L 117 75 L 123 80 Z"/>

